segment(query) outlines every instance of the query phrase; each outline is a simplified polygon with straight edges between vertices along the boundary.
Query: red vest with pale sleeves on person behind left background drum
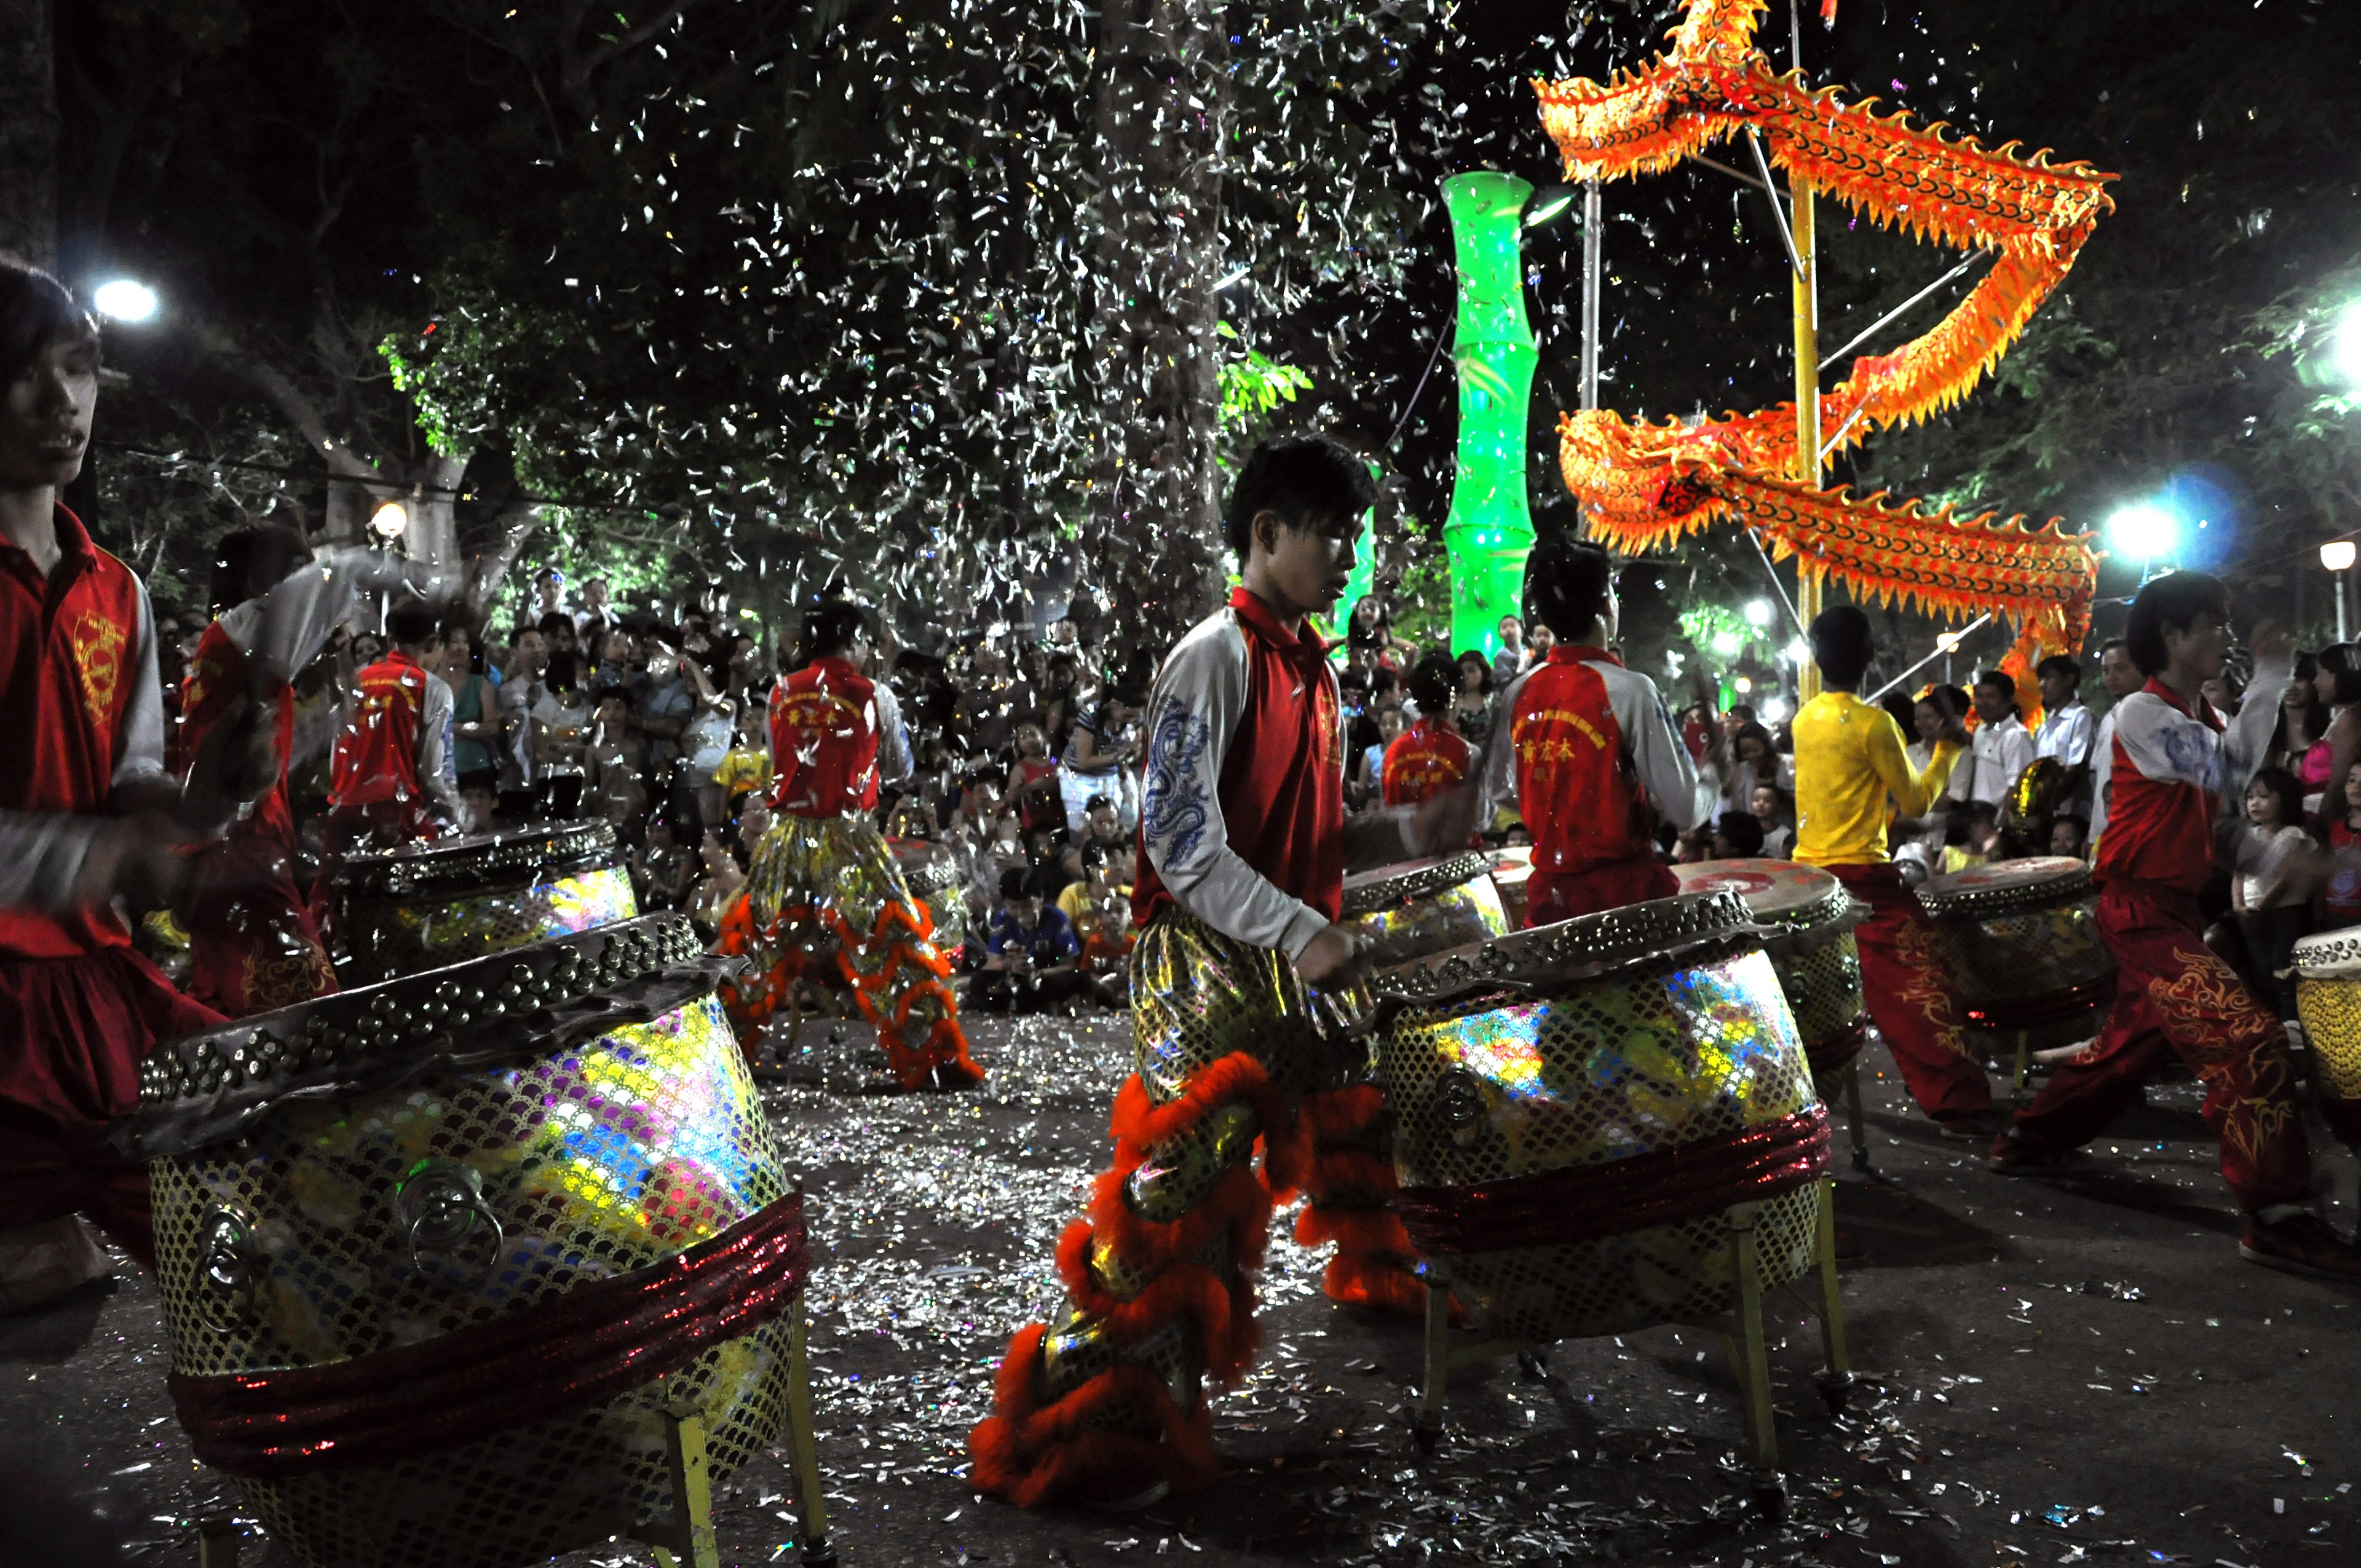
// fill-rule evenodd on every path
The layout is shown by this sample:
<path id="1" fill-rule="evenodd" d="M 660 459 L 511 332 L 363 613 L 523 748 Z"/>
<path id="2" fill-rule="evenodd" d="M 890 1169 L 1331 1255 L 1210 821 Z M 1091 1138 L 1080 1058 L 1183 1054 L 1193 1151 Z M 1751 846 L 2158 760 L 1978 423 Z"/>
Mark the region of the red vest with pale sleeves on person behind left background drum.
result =
<path id="1" fill-rule="evenodd" d="M 399 647 L 354 675 L 357 704 L 328 765 L 328 841 L 399 845 L 458 822 L 451 687 Z"/>

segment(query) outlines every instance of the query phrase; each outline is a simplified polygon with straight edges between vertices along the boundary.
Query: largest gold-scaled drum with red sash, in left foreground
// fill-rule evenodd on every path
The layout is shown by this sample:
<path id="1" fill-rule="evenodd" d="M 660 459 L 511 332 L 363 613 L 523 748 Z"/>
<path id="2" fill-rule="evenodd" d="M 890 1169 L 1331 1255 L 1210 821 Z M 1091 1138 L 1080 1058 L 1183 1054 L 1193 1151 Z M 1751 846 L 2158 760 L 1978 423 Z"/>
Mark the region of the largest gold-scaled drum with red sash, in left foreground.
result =
<path id="1" fill-rule="evenodd" d="M 158 1046 L 172 1398 L 316 1568 L 510 1568 L 668 1516 L 789 1410 L 803 1207 L 685 916 Z"/>

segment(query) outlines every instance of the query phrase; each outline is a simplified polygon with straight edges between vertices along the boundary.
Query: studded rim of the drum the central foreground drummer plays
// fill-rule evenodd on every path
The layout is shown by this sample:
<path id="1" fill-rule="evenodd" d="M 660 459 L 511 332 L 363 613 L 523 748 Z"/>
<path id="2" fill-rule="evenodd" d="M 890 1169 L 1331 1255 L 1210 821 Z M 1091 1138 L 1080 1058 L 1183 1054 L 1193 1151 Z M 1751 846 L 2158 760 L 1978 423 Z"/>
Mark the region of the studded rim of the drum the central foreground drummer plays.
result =
<path id="1" fill-rule="evenodd" d="M 1485 989 L 1537 989 L 1596 980 L 1624 968 L 1679 959 L 1698 947 L 1757 942 L 1759 933 L 1738 893 L 1681 893 L 1646 904 L 1584 914 L 1556 926 L 1528 926 L 1490 942 L 1395 963 L 1374 975 L 1379 1001 L 1450 1001 Z"/>

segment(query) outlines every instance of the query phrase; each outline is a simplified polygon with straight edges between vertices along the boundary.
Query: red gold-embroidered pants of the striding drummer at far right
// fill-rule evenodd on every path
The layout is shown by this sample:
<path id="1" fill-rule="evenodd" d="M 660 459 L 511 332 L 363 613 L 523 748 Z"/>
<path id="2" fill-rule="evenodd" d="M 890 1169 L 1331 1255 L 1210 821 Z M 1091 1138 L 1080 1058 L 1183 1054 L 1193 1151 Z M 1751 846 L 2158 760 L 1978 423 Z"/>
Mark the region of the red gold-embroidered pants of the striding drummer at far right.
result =
<path id="1" fill-rule="evenodd" d="M 2205 947 L 2198 900 L 2160 883 L 2111 881 L 2099 935 L 2115 954 L 2115 1011 L 2099 1039 L 2016 1112 L 2016 1133 L 2068 1150 L 2106 1131 L 2170 1056 L 2205 1084 L 2205 1126 L 2245 1211 L 2304 1202 L 2311 1150 L 2295 1110 L 2288 1032 Z"/>

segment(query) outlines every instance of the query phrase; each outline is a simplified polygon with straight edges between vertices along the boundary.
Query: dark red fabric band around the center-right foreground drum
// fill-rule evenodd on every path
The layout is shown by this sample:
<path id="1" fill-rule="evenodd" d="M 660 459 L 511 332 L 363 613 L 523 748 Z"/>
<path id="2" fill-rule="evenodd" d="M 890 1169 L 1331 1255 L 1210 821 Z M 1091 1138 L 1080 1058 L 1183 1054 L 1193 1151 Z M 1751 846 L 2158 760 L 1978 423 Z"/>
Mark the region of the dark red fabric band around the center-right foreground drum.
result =
<path id="1" fill-rule="evenodd" d="M 1728 1138 L 1478 1188 L 1402 1188 L 1395 1207 L 1419 1252 L 1466 1256 L 1596 1242 L 1792 1193 L 1827 1171 L 1827 1108 Z"/>

